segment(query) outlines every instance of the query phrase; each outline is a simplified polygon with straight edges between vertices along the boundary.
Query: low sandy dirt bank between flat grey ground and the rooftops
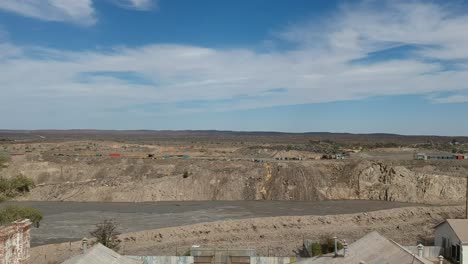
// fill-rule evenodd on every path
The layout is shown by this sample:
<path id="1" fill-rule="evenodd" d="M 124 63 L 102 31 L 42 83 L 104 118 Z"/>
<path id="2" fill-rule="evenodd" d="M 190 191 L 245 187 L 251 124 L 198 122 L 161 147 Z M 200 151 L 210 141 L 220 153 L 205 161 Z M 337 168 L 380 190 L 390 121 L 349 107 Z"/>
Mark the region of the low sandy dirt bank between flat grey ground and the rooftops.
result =
<path id="1" fill-rule="evenodd" d="M 127 255 L 183 255 L 192 245 L 214 248 L 254 248 L 259 255 L 295 256 L 303 239 L 338 235 L 352 242 L 378 231 L 403 245 L 430 243 L 434 225 L 463 215 L 464 208 L 410 207 L 333 216 L 283 216 L 220 221 L 121 235 Z M 37 264 L 62 261 L 79 252 L 80 242 L 32 248 Z M 42 261 L 42 262 L 41 262 Z M 35 262 L 36 263 L 36 262 Z"/>

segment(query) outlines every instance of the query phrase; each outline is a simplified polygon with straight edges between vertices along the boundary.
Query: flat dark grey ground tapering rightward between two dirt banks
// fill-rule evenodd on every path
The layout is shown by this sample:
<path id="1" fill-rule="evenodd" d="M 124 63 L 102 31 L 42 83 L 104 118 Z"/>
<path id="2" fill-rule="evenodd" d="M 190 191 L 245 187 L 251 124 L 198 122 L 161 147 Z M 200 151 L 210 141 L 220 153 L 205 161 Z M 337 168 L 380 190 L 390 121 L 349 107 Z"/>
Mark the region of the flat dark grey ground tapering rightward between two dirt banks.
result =
<path id="1" fill-rule="evenodd" d="M 40 228 L 32 229 L 32 246 L 77 241 L 94 225 L 114 218 L 121 233 L 197 223 L 273 216 L 354 214 L 415 206 L 366 200 L 339 201 L 187 201 L 154 203 L 8 202 L 41 210 Z M 421 206 L 421 205 L 417 205 Z"/>

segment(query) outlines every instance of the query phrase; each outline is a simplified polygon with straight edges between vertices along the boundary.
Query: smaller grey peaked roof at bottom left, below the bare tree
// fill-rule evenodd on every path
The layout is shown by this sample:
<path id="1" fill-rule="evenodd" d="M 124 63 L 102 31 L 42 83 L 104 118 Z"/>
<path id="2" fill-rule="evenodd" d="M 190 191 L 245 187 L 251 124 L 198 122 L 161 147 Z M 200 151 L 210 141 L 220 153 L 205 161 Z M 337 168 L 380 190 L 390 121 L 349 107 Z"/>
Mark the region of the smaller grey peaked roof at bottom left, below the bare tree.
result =
<path id="1" fill-rule="evenodd" d="M 117 252 L 97 244 L 86 253 L 72 257 L 62 264 L 143 264 L 142 260 L 133 260 L 119 255 Z"/>

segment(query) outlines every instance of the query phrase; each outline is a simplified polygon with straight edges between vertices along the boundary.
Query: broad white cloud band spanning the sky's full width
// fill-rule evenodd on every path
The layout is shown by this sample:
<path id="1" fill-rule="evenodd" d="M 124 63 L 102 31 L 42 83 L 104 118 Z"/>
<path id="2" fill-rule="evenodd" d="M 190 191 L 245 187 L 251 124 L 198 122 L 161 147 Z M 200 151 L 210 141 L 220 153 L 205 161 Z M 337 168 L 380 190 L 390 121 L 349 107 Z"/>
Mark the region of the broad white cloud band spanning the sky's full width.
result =
<path id="1" fill-rule="evenodd" d="M 327 19 L 326 27 L 305 23 L 288 28 L 280 41 L 297 45 L 287 51 L 175 44 L 80 52 L 20 48 L 16 56 L 0 60 L 0 111 L 47 114 L 59 108 L 106 115 L 112 109 L 132 109 L 151 114 L 144 106 L 164 105 L 162 114 L 167 114 L 185 111 L 178 108 L 187 101 L 200 102 L 187 104 L 191 111 L 224 111 L 466 93 L 468 68 L 449 71 L 446 64 L 468 58 L 468 23 L 459 23 L 468 15 L 426 3 L 389 5 L 388 13 L 352 6 Z M 354 62 L 405 44 L 426 48 L 401 58 Z M 97 74 L 83 78 L 87 73 Z M 267 92 L 280 88 L 281 93 Z"/>

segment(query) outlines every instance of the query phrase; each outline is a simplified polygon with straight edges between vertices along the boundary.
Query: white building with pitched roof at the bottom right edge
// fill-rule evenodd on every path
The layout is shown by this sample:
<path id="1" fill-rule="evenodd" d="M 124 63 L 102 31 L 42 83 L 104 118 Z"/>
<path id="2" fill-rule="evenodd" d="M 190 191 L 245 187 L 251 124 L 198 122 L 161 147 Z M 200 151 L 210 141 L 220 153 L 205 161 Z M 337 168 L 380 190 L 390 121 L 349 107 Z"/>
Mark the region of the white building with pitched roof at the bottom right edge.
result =
<path id="1" fill-rule="evenodd" d="M 434 243 L 443 248 L 444 257 L 468 264 L 468 219 L 447 219 L 438 224 Z"/>

